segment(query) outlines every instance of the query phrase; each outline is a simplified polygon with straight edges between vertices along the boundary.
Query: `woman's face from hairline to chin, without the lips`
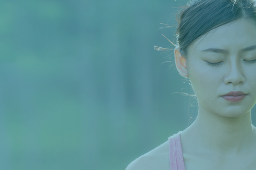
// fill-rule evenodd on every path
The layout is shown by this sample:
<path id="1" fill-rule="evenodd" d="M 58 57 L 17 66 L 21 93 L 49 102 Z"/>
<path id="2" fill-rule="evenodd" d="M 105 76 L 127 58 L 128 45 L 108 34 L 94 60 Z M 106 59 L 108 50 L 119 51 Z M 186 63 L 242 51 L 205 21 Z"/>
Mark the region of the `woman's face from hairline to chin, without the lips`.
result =
<path id="1" fill-rule="evenodd" d="M 210 31 L 188 48 L 186 66 L 199 112 L 225 117 L 250 112 L 256 103 L 256 25 L 240 19 Z M 247 95 L 238 102 L 224 100 L 231 91 Z"/>

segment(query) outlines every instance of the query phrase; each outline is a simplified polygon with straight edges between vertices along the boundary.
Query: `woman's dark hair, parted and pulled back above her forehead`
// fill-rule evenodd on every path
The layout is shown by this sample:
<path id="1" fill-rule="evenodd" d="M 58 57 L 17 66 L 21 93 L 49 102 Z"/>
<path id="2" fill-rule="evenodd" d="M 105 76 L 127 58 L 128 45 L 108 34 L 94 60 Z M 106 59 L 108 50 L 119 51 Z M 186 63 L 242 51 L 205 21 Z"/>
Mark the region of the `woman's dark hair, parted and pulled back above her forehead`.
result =
<path id="1" fill-rule="evenodd" d="M 177 14 L 177 45 L 183 57 L 199 37 L 226 23 L 246 18 L 256 24 L 254 0 L 193 0 Z"/>

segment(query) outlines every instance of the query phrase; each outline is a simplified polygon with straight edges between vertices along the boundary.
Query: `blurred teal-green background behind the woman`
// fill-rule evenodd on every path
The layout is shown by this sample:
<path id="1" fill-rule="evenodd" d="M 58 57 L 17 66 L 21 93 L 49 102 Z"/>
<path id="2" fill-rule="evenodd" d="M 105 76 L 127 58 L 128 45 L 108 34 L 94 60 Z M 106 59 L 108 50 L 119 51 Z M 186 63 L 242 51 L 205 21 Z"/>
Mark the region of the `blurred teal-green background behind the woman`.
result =
<path id="1" fill-rule="evenodd" d="M 153 48 L 186 3 L 1 0 L 0 169 L 124 170 L 187 128 L 191 88 Z"/>

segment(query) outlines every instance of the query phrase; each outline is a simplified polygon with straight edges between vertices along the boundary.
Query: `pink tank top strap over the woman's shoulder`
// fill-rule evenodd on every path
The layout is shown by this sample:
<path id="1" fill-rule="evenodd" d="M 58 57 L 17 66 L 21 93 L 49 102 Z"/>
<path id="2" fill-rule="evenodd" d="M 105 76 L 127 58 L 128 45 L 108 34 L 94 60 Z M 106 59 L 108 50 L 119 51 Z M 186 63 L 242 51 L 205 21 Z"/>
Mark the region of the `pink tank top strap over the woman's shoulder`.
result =
<path id="1" fill-rule="evenodd" d="M 174 134 L 168 138 L 171 170 L 185 170 L 181 148 L 181 132 L 182 131 L 179 131 L 177 134 Z"/>

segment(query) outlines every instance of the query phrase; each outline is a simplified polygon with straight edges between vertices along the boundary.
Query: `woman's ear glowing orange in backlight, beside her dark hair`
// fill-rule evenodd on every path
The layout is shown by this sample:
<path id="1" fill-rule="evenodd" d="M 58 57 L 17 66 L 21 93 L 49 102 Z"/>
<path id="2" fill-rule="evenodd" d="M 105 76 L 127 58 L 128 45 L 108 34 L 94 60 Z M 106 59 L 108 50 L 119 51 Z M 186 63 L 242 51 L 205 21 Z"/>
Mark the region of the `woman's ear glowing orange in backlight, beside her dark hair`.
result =
<path id="1" fill-rule="evenodd" d="M 179 71 L 180 75 L 182 75 L 183 77 L 189 77 L 187 65 L 186 65 L 186 58 L 184 58 L 181 55 L 179 47 L 175 47 L 174 56 L 175 56 L 176 68 Z"/>

